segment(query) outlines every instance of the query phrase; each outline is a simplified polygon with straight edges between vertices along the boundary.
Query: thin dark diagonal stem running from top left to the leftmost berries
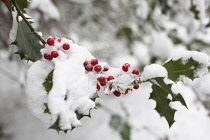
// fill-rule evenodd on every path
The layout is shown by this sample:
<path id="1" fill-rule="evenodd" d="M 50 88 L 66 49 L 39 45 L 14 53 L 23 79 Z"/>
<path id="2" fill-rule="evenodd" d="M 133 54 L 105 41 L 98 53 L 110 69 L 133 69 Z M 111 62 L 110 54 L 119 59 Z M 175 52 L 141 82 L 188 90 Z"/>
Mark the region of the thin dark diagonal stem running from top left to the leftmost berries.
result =
<path id="1" fill-rule="evenodd" d="M 18 12 L 18 14 L 23 18 L 23 20 L 25 21 L 25 23 L 30 28 L 31 32 L 33 32 L 37 36 L 37 38 L 42 42 L 42 44 L 45 45 L 46 44 L 45 40 L 31 26 L 30 22 L 26 19 L 26 17 L 24 16 L 24 14 L 21 12 L 20 8 L 18 7 L 16 1 L 15 0 L 12 0 L 12 3 L 14 4 L 14 6 L 15 6 L 17 12 Z"/>

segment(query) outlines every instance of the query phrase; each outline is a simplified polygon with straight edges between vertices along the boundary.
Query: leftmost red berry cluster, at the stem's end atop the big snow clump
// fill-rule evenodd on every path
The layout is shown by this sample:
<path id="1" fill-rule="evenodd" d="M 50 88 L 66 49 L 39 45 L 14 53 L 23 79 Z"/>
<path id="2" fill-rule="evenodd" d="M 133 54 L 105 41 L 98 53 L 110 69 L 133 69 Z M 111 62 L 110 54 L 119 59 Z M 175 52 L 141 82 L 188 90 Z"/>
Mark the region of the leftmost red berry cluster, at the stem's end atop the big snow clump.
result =
<path id="1" fill-rule="evenodd" d="M 49 46 L 54 46 L 56 41 L 58 43 L 61 43 L 62 39 L 60 39 L 60 38 L 58 38 L 58 39 L 57 38 L 48 38 L 47 39 L 47 44 Z M 62 49 L 63 50 L 69 50 L 70 49 L 70 45 L 68 43 L 64 43 L 62 45 Z M 58 56 L 59 56 L 58 51 L 52 51 L 51 53 L 45 53 L 44 54 L 44 58 L 47 59 L 47 60 L 52 60 L 53 58 L 57 58 Z"/>

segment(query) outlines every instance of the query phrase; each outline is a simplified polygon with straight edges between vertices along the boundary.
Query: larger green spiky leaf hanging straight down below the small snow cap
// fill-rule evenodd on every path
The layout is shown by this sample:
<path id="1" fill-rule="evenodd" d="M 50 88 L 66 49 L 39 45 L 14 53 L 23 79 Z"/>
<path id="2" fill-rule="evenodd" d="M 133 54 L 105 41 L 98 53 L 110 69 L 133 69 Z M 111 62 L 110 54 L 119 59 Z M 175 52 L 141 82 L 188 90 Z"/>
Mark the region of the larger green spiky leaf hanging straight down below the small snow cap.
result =
<path id="1" fill-rule="evenodd" d="M 156 84 L 152 85 L 152 90 L 153 91 L 151 92 L 149 99 L 156 101 L 155 110 L 160 114 L 161 117 L 165 117 L 169 127 L 171 127 L 175 122 L 174 114 L 176 110 L 169 106 L 169 103 L 171 102 L 170 99 L 167 98 L 169 93 Z"/>

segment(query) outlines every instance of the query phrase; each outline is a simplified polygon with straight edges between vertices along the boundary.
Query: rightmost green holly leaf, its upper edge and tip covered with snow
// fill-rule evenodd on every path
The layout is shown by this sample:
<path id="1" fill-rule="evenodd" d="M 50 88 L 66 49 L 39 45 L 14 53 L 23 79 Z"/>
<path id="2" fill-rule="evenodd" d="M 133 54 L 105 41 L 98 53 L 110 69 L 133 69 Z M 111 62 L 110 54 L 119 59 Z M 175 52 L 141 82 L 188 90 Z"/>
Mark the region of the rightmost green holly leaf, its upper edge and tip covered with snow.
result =
<path id="1" fill-rule="evenodd" d="M 168 78 L 174 82 L 178 81 L 181 75 L 190 79 L 195 79 L 194 71 L 201 66 L 197 61 L 190 58 L 187 63 L 183 63 L 182 59 L 170 60 L 163 65 L 168 71 Z"/>

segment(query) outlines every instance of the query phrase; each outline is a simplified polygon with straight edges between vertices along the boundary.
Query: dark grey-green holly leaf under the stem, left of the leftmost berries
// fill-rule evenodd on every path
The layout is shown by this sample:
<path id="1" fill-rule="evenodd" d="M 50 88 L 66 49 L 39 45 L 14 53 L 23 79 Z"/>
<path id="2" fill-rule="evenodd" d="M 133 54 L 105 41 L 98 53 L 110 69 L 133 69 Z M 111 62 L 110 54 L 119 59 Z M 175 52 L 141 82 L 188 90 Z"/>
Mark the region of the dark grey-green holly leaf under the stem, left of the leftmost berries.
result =
<path id="1" fill-rule="evenodd" d="M 18 47 L 18 53 L 21 54 L 22 59 L 37 61 L 42 57 L 40 49 L 43 46 L 25 21 L 18 23 L 17 36 L 13 44 Z"/>

